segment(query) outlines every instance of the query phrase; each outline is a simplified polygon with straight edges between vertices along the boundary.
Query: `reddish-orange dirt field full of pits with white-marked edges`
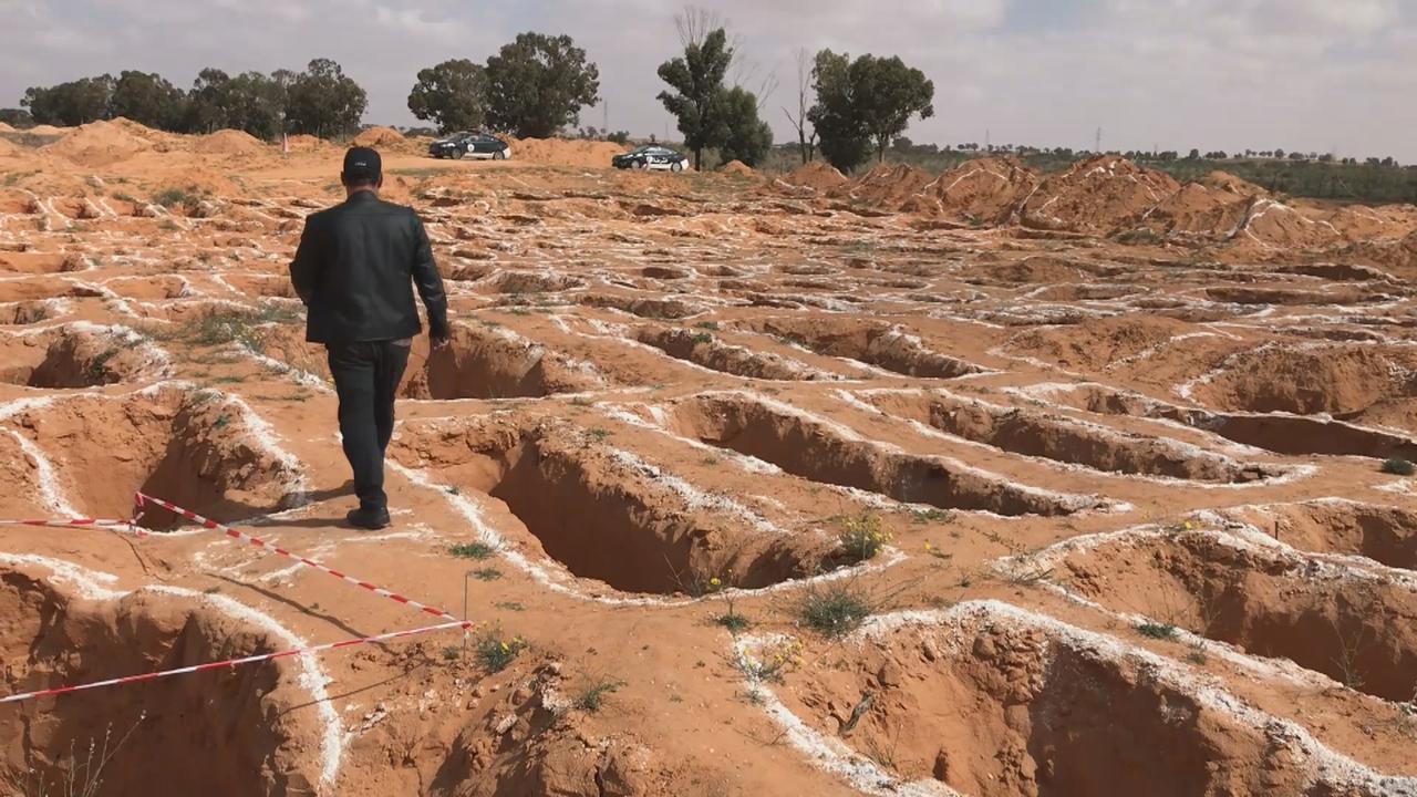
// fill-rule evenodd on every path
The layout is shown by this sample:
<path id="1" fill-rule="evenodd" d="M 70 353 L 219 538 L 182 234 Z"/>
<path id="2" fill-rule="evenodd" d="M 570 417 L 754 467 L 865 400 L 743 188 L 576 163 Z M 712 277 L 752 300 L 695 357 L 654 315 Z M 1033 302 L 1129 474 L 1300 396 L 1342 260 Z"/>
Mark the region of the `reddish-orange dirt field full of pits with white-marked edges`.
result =
<path id="1" fill-rule="evenodd" d="M 0 703 L 6 793 L 1417 794 L 1417 208 L 395 140 L 456 333 L 360 533 L 295 143 L 0 142 L 0 518 L 478 627 Z M 142 522 L 0 528 L 6 693 L 436 620 Z"/>

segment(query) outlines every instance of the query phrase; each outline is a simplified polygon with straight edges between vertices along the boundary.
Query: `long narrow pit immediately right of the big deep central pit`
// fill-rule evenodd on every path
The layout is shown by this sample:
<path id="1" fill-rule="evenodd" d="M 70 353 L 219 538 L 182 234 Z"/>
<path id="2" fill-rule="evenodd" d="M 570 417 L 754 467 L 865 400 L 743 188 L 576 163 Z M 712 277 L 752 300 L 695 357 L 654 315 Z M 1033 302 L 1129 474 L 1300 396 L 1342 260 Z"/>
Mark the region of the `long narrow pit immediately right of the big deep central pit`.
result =
<path id="1" fill-rule="evenodd" d="M 1090 496 L 1030 489 L 965 465 L 905 454 L 830 421 L 745 394 L 706 394 L 679 403 L 676 430 L 694 440 L 771 462 L 805 479 L 941 509 L 998 515 L 1071 515 L 1100 505 Z"/>

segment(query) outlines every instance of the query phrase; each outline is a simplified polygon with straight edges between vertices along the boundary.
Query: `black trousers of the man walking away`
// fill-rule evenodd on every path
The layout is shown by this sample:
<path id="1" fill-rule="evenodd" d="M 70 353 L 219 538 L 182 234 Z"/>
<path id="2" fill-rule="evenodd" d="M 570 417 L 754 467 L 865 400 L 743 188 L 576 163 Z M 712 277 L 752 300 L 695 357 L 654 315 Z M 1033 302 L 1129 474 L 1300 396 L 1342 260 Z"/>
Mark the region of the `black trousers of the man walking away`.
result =
<path id="1" fill-rule="evenodd" d="M 364 509 L 387 509 L 384 451 L 394 437 L 394 394 L 408 366 L 408 346 L 391 340 L 327 343 L 334 391 L 340 397 L 344 457 Z"/>

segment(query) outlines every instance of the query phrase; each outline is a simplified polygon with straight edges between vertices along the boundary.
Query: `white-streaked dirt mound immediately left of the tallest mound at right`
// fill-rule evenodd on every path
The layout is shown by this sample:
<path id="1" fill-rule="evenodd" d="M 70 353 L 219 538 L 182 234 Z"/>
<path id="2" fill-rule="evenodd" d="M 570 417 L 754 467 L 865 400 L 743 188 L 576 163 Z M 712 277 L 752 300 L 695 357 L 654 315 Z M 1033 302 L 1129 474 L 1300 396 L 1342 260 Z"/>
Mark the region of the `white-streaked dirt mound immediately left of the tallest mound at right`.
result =
<path id="1" fill-rule="evenodd" d="M 913 210 L 965 221 L 1007 223 L 1039 187 L 1039 173 L 1016 157 L 961 163 L 925 186 Z"/>

